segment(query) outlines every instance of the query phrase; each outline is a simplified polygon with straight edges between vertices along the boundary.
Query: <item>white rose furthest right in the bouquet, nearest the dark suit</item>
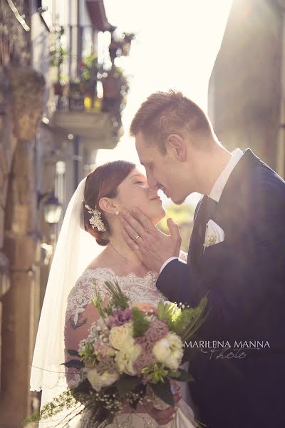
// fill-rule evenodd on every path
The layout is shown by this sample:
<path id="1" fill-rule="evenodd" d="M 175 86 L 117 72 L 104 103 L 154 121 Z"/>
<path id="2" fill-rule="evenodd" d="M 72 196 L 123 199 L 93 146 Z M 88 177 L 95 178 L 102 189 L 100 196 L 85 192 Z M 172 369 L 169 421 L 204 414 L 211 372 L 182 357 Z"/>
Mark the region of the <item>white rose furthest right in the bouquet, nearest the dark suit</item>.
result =
<path id="1" fill-rule="evenodd" d="M 175 333 L 167 333 L 165 337 L 155 343 L 152 353 L 158 362 L 166 365 L 171 370 L 177 370 L 183 356 L 182 340 Z"/>

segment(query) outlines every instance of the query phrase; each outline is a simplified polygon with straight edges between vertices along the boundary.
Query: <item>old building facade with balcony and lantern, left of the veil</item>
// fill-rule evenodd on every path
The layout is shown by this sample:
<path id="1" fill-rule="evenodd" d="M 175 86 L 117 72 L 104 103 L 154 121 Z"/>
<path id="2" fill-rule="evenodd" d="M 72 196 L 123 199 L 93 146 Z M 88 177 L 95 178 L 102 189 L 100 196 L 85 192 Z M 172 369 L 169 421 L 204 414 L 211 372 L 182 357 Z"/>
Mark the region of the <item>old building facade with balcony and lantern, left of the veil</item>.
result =
<path id="1" fill-rule="evenodd" d="M 0 2 L 0 428 L 40 404 L 29 377 L 63 214 L 98 148 L 122 133 L 115 57 L 129 40 L 114 34 L 103 0 Z"/>

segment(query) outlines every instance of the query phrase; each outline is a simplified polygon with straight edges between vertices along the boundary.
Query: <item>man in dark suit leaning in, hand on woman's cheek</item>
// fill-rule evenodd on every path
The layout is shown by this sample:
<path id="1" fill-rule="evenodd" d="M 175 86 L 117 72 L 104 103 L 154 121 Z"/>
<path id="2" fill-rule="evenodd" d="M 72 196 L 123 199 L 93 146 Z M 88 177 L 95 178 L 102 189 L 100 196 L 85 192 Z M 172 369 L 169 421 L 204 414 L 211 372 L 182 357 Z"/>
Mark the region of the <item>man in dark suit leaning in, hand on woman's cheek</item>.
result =
<path id="1" fill-rule="evenodd" d="M 138 208 L 121 219 L 125 239 L 160 272 L 157 288 L 169 300 L 195 306 L 209 292 L 197 338 L 203 342 L 190 364 L 197 419 L 208 428 L 284 427 L 284 180 L 249 149 L 229 153 L 205 113 L 180 92 L 149 96 L 130 133 L 150 188 L 177 205 L 203 194 L 187 264 L 171 219 L 169 236 Z M 165 424 L 174 411 L 150 414 Z"/>

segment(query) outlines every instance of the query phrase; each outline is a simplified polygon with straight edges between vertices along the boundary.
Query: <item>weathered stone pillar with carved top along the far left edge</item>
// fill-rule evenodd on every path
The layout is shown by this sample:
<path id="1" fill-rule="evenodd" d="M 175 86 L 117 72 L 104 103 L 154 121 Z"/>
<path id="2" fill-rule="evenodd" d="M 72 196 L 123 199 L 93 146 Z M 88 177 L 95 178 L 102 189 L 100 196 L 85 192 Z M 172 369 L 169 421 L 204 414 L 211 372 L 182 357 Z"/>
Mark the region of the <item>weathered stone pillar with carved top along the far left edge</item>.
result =
<path id="1" fill-rule="evenodd" d="M 31 411 L 29 363 L 38 316 L 40 244 L 33 139 L 41 122 L 45 81 L 28 67 L 6 66 L 0 74 L 0 255 L 7 260 L 0 266 L 0 282 L 9 264 L 11 283 L 5 290 L 0 287 L 0 427 L 14 428 Z"/>

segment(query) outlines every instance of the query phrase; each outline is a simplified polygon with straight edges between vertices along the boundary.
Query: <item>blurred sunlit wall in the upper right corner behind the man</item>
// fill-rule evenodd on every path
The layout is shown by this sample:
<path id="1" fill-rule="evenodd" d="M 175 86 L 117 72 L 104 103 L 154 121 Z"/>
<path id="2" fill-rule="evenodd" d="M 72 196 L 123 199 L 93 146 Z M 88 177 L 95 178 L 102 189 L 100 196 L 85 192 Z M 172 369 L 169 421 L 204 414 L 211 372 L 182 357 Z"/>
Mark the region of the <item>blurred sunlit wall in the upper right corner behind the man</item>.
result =
<path id="1" fill-rule="evenodd" d="M 275 1 L 234 0 L 209 83 L 209 116 L 220 141 L 252 148 L 276 167 L 282 14 Z"/>

